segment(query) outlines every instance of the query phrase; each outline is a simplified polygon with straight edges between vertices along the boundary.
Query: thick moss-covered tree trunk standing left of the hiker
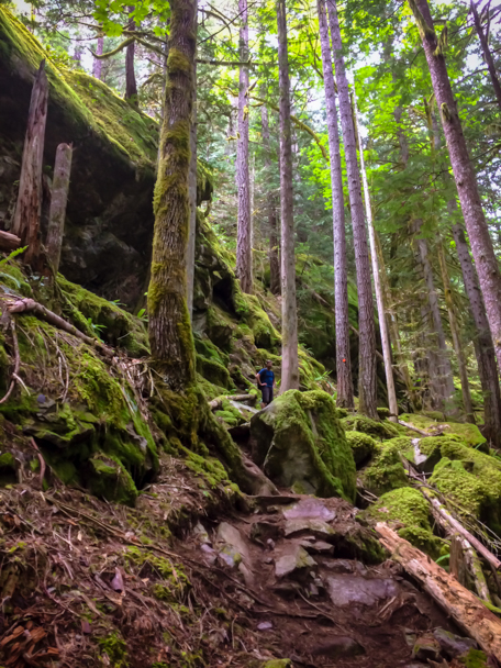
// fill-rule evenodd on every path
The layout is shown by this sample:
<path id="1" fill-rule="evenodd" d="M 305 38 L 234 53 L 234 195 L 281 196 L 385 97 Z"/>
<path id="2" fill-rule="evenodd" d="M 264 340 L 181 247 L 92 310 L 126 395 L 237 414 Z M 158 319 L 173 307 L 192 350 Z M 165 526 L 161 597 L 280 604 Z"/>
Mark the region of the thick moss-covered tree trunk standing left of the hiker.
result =
<path id="1" fill-rule="evenodd" d="M 190 225 L 188 177 L 193 113 L 194 0 L 171 0 L 169 55 L 162 124 L 152 279 L 148 288 L 152 356 L 172 390 L 194 381 L 194 347 L 186 301 Z"/>

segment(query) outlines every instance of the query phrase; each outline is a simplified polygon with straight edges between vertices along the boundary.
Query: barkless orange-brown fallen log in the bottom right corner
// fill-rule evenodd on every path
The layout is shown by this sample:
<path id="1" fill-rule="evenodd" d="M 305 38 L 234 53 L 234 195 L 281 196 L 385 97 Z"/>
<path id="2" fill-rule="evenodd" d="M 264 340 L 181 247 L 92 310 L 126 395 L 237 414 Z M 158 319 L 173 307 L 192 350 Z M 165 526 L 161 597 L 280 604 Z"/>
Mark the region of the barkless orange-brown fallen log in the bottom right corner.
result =
<path id="1" fill-rule="evenodd" d="M 392 558 L 421 583 L 468 636 L 477 641 L 483 652 L 501 660 L 501 620 L 456 578 L 387 524 L 379 522 L 376 531 L 381 544 L 392 553 Z"/>

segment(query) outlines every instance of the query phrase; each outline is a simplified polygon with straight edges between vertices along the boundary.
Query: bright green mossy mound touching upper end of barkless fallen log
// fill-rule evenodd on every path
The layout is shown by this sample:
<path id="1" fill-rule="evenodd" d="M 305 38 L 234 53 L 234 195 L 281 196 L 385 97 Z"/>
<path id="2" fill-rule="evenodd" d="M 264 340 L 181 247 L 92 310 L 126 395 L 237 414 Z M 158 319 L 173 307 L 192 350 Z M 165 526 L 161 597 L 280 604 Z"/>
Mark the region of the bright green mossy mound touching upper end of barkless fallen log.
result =
<path id="1" fill-rule="evenodd" d="M 444 541 L 433 535 L 430 505 L 423 494 L 411 487 L 392 490 L 371 505 L 366 514 L 377 522 L 398 527 L 398 534 L 433 558 L 439 556 Z M 403 524 L 403 526 L 401 526 Z"/>

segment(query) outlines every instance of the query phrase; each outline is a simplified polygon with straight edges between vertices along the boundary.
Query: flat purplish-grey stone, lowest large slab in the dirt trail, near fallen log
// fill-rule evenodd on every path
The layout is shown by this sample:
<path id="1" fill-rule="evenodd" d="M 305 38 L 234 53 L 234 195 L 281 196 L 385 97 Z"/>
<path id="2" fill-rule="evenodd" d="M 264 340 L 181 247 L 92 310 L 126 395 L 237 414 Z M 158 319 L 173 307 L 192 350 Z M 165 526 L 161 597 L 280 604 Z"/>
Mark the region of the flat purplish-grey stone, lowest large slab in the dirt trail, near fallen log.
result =
<path id="1" fill-rule="evenodd" d="M 379 601 L 398 594 L 398 587 L 390 579 L 363 578 L 354 575 L 332 575 L 326 578 L 329 595 L 334 605 L 376 605 Z"/>

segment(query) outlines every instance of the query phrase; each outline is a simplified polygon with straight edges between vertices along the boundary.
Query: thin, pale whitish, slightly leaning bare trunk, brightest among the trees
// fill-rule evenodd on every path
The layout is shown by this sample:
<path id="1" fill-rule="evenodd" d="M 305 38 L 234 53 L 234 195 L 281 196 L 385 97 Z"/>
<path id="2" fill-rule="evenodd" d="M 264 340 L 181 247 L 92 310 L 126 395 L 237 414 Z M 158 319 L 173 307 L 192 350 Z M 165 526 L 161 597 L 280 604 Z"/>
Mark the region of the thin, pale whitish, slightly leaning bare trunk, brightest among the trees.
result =
<path id="1" fill-rule="evenodd" d="M 358 125 L 357 98 L 354 87 L 354 113 L 355 122 Z M 369 227 L 369 244 L 370 256 L 372 260 L 374 290 L 376 292 L 376 303 L 378 304 L 379 331 L 381 333 L 382 357 L 385 359 L 385 375 L 387 379 L 388 407 L 390 409 L 390 421 L 397 422 L 399 415 L 399 404 L 397 403 L 397 392 L 394 389 L 393 366 L 391 364 L 391 342 L 387 326 L 387 318 L 385 311 L 385 300 L 382 296 L 381 277 L 378 261 L 378 252 L 376 247 L 376 232 L 374 229 L 372 208 L 370 205 L 369 185 L 367 182 L 367 172 L 364 160 L 364 146 L 361 144 L 360 133 L 358 134 L 358 145 L 360 152 L 360 169 L 361 180 L 364 183 L 365 204 L 367 214 L 367 225 Z"/>

